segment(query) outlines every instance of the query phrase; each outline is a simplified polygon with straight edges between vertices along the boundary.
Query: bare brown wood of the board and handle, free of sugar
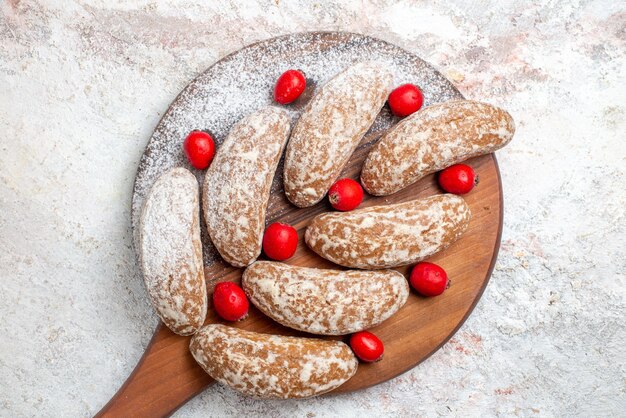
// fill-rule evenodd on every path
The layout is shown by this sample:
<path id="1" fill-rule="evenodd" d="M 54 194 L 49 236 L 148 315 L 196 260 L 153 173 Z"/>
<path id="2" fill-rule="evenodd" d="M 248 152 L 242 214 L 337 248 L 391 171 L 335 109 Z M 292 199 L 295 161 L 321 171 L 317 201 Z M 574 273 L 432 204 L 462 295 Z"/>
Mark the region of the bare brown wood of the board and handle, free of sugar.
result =
<path id="1" fill-rule="evenodd" d="M 353 36 L 329 33 L 327 41 L 340 43 L 342 37 L 348 35 Z M 310 34 L 301 34 L 301 36 L 310 36 Z M 322 34 L 322 38 L 324 36 L 326 35 Z M 264 41 L 264 43 L 270 42 L 272 40 Z M 376 42 L 382 41 L 376 40 Z M 400 51 L 406 54 L 406 51 Z M 419 60 L 417 57 L 415 59 Z M 423 64 L 421 60 L 419 62 Z M 461 97 L 452 85 L 449 89 L 451 96 Z M 174 101 L 170 111 L 176 109 L 177 103 L 178 99 Z M 158 129 L 159 127 L 157 131 Z M 363 138 L 341 177 L 358 180 L 367 151 L 379 135 L 380 131 L 372 131 Z M 148 146 L 146 153 L 149 155 L 153 152 L 154 150 Z M 459 241 L 429 259 L 446 269 L 451 280 L 450 288 L 443 295 L 435 298 L 424 298 L 411 292 L 406 305 L 398 313 L 372 329 L 385 344 L 384 359 L 378 363 L 360 364 L 356 375 L 332 393 L 367 388 L 415 367 L 454 335 L 478 302 L 491 275 L 500 245 L 502 190 L 498 166 L 493 154 L 469 160 L 469 164 L 474 167 L 480 178 L 479 185 L 465 196 L 472 211 L 469 229 Z M 138 178 L 141 176 L 142 166 L 140 166 Z M 366 195 L 361 207 L 404 202 L 437 193 L 442 193 L 442 190 L 437 185 L 435 175 L 431 174 L 390 196 Z M 289 264 L 342 269 L 308 249 L 303 240 L 304 230 L 309 221 L 315 215 L 329 210 L 332 208 L 326 199 L 310 208 L 296 208 L 289 204 L 282 188 L 273 189 L 266 222 L 290 223 L 298 230 L 300 238 L 298 250 L 294 257 L 288 260 Z M 261 256 L 260 259 L 265 258 Z M 408 277 L 408 267 L 397 270 Z M 239 282 L 242 272 L 242 269 L 231 267 L 219 259 L 205 265 L 209 293 L 209 314 L 206 323 L 225 323 L 216 318 L 211 308 L 210 300 L 215 283 L 225 280 Z M 229 323 L 229 325 L 257 332 L 307 335 L 275 323 L 252 306 L 250 316 L 245 321 Z M 146 353 L 131 376 L 97 416 L 168 416 L 201 392 L 213 380 L 195 363 L 189 353 L 188 345 L 189 337 L 177 336 L 167 327 L 159 325 L 146 348 Z"/>

